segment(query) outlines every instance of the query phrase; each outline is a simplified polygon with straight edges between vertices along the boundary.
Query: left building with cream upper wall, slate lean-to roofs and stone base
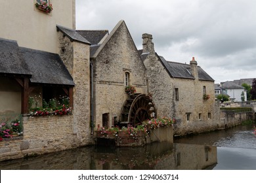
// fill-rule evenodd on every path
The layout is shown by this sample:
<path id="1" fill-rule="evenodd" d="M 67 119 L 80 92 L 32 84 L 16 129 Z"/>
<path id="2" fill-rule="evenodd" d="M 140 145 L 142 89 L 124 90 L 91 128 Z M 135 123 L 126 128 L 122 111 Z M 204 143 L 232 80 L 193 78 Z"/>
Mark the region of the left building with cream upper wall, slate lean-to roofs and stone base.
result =
<path id="1" fill-rule="evenodd" d="M 37 8 L 36 0 L 2 3 L 1 134 L 16 120 L 22 122 L 23 134 L 0 138 L 0 161 L 93 143 L 89 124 L 91 43 L 74 31 L 74 0 L 46 2 L 52 3 L 51 12 Z M 70 112 L 66 106 L 53 111 L 29 110 L 31 97 L 37 97 L 34 107 L 42 107 L 44 101 L 49 103 L 60 95 L 69 97 L 72 115 L 57 115 Z"/>

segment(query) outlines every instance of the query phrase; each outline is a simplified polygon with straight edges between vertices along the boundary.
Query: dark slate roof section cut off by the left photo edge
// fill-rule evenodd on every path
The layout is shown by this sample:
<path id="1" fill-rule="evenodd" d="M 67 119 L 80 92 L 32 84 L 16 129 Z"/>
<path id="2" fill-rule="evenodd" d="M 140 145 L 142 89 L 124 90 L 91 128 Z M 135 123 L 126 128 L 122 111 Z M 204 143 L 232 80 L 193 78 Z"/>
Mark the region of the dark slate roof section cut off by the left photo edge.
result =
<path id="1" fill-rule="evenodd" d="M 16 41 L 0 38 L 0 73 L 32 74 Z"/>

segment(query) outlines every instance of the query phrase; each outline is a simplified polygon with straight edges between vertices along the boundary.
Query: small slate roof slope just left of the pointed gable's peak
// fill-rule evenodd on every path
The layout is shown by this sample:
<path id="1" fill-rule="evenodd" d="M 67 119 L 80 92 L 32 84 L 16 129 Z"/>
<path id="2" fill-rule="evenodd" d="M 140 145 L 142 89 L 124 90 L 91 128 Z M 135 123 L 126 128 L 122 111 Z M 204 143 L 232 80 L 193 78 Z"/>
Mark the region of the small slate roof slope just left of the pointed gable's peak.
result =
<path id="1" fill-rule="evenodd" d="M 77 33 L 79 33 L 82 37 L 87 39 L 91 44 L 99 44 L 102 39 L 108 35 L 108 30 L 98 30 L 98 31 L 82 31 L 78 30 Z"/>

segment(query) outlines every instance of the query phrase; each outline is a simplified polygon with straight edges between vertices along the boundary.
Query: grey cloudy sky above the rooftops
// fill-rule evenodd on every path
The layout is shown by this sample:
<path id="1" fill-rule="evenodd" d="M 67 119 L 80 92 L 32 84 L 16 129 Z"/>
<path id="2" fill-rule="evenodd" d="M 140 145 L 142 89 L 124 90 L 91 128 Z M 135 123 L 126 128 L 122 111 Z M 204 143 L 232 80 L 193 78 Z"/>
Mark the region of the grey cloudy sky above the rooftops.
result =
<path id="1" fill-rule="evenodd" d="M 76 0 L 76 29 L 112 31 L 119 20 L 138 49 L 150 33 L 160 56 L 194 56 L 215 83 L 256 78 L 254 0 Z"/>

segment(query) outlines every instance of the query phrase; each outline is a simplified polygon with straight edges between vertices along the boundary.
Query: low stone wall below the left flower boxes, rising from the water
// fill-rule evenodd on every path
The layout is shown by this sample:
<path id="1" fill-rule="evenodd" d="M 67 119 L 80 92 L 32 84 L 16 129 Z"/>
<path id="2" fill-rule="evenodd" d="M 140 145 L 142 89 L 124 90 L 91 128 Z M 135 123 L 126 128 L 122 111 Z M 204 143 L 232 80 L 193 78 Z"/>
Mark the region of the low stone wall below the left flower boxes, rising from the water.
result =
<path id="1" fill-rule="evenodd" d="M 73 118 L 73 115 L 23 117 L 24 136 L 0 142 L 0 161 L 83 146 L 73 132 Z"/>

